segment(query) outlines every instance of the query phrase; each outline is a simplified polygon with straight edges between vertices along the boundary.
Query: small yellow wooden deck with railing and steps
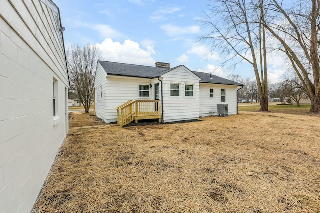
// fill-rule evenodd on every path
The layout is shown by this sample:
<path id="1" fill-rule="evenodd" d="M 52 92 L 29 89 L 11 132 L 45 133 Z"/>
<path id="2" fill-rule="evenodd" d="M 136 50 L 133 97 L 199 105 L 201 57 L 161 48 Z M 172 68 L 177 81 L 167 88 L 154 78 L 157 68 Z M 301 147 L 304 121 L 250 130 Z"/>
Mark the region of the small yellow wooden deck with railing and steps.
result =
<path id="1" fill-rule="evenodd" d="M 124 126 L 135 120 L 158 119 L 161 122 L 161 104 L 159 100 L 128 101 L 116 108 L 117 123 Z"/>

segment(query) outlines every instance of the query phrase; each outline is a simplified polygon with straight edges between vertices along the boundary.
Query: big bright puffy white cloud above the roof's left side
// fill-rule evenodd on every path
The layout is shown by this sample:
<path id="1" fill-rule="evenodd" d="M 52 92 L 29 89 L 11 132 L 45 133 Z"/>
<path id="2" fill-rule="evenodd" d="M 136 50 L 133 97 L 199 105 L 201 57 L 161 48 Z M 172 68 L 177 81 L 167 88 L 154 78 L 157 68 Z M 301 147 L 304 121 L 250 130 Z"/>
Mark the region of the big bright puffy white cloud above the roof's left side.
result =
<path id="1" fill-rule="evenodd" d="M 123 44 L 113 42 L 111 38 L 106 38 L 101 44 L 96 44 L 101 50 L 103 59 L 107 61 L 154 65 L 155 54 L 153 46 L 147 46 L 147 50 L 141 49 L 139 43 L 125 40 Z"/>

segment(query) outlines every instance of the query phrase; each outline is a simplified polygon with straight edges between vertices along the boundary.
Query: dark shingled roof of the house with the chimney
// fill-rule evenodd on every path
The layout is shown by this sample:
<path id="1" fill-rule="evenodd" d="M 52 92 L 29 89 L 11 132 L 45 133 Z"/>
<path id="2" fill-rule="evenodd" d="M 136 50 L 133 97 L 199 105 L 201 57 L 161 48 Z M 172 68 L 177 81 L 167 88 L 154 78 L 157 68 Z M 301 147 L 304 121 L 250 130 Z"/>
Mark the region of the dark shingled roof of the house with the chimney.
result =
<path id="1" fill-rule="evenodd" d="M 161 75 L 170 72 L 177 67 L 173 67 L 170 69 L 162 68 L 162 67 L 153 67 L 153 66 L 143 66 L 143 65 L 135 65 L 135 64 L 125 64 L 125 63 L 117 63 L 110 61 L 98 61 L 103 69 L 106 71 L 108 75 L 120 75 L 120 76 L 130 76 L 130 77 L 141 77 L 141 78 L 156 78 Z M 182 65 L 180 65 L 182 66 Z M 242 86 L 242 84 L 218 77 L 216 75 L 211 75 L 209 73 L 204 72 L 195 72 L 192 71 L 196 76 L 201 78 L 201 83 L 215 83 L 215 84 L 227 84 L 227 85 L 237 85 Z"/>

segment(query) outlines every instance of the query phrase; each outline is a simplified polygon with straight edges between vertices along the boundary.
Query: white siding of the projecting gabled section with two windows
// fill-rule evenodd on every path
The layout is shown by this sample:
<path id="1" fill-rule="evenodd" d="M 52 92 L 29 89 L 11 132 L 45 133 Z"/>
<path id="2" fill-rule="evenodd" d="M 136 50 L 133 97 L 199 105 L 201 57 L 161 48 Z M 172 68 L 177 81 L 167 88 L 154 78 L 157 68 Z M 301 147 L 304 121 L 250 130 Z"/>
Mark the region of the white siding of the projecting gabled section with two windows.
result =
<path id="1" fill-rule="evenodd" d="M 170 96 L 170 83 L 180 84 L 180 97 Z M 185 84 L 194 85 L 193 97 L 185 97 Z M 163 111 L 164 122 L 199 118 L 199 80 L 183 66 L 163 77 Z"/>

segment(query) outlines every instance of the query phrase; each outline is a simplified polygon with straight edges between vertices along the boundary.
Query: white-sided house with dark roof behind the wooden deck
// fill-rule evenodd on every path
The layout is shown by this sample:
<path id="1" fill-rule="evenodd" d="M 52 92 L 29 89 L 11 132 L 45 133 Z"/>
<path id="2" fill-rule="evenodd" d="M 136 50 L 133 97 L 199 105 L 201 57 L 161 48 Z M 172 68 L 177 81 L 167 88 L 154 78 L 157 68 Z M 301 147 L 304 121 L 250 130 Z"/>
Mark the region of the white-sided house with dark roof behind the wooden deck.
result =
<path id="1" fill-rule="evenodd" d="M 237 90 L 242 84 L 184 65 L 170 68 L 98 61 L 95 76 L 95 111 L 105 122 L 117 121 L 117 107 L 128 100 L 159 100 L 163 122 L 217 115 L 227 104 L 237 114 Z"/>

